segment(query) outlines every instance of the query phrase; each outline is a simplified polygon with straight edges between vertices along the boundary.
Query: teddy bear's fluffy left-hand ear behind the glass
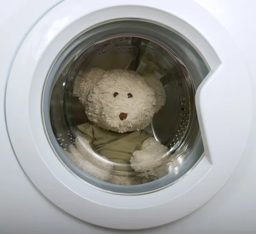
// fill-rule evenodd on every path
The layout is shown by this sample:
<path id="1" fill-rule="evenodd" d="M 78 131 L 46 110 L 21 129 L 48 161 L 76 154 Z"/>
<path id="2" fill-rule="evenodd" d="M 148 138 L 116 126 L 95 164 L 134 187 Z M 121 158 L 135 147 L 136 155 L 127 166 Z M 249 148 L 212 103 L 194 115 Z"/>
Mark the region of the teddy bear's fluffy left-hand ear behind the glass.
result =
<path id="1" fill-rule="evenodd" d="M 80 71 L 73 84 L 73 95 L 78 97 L 83 104 L 95 84 L 102 79 L 104 74 L 105 70 L 100 68 L 91 68 L 87 72 Z"/>

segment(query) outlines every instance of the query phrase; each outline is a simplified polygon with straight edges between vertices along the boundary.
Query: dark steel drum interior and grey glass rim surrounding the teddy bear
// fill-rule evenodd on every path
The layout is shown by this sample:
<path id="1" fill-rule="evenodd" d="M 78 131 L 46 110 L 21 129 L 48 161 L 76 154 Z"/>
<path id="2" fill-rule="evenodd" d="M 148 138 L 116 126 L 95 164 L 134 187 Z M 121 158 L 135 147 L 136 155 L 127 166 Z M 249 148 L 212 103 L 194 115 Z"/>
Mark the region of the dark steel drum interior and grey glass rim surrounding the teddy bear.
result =
<path id="1" fill-rule="evenodd" d="M 142 185 L 114 185 L 84 173 L 67 158 L 65 151 L 74 144 L 76 126 L 88 121 L 78 98 L 72 95 L 73 82 L 79 70 L 92 67 L 154 73 L 160 79 L 166 104 L 145 130 L 175 153 L 167 176 Z M 105 191 L 141 194 L 169 186 L 189 173 L 204 154 L 195 92 L 208 72 L 197 49 L 163 25 L 120 19 L 88 29 L 70 41 L 49 71 L 42 99 L 49 142 L 72 173 Z"/>

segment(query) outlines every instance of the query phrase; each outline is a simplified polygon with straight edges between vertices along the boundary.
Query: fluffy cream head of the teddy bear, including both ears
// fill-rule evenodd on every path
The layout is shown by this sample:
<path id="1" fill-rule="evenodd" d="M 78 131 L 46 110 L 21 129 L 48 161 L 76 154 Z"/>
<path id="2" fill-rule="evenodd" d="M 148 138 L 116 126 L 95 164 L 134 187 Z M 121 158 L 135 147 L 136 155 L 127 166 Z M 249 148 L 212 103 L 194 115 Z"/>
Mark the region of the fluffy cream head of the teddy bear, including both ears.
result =
<path id="1" fill-rule="evenodd" d="M 79 72 L 73 95 L 93 124 L 118 133 L 147 127 L 166 100 L 163 85 L 154 75 L 121 69 Z"/>

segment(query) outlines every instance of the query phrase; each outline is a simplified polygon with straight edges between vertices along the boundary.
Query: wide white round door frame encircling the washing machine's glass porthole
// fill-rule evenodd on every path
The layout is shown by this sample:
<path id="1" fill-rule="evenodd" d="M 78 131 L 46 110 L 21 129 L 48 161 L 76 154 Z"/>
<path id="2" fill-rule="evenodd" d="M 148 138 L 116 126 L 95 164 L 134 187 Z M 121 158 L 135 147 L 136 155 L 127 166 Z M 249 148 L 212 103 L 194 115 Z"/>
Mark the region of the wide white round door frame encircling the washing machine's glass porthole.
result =
<path id="1" fill-rule="evenodd" d="M 140 21 L 145 28 L 152 23 L 156 30 L 162 27 L 175 33 L 200 54 L 202 66 L 208 69 L 195 88 L 203 151 L 195 152 L 196 162 L 182 176 L 174 180 L 164 176 L 154 181 L 156 187 L 112 186 L 74 173 L 61 158 L 61 147 L 51 138 L 45 117 L 50 108 L 44 105 L 45 98 L 52 92 L 55 81 L 50 77 L 61 66 L 59 58 L 64 61 L 70 45 L 77 48 L 73 42 L 91 29 L 127 20 L 131 29 L 136 28 L 131 21 Z M 161 38 L 157 31 L 151 31 L 152 37 Z M 184 50 L 184 56 L 193 57 L 189 50 Z M 250 81 L 239 49 L 224 27 L 192 0 L 175 4 L 165 0 L 131 0 L 128 4 L 65 0 L 42 17 L 24 39 L 6 91 L 9 136 L 26 175 L 62 210 L 108 228 L 163 225 L 204 205 L 238 165 L 247 144 L 251 116 Z"/>

